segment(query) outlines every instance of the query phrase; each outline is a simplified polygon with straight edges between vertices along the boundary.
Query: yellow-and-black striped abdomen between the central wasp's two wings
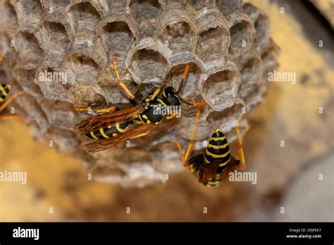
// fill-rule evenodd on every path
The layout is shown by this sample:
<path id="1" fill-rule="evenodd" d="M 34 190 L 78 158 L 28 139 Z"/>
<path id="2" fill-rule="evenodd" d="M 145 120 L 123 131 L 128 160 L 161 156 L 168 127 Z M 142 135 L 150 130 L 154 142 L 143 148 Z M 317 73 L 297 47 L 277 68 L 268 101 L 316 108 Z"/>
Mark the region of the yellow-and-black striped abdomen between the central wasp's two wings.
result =
<path id="1" fill-rule="evenodd" d="M 122 123 L 116 122 L 115 125 L 99 127 L 98 130 L 87 132 L 85 136 L 89 139 L 109 139 L 123 133 L 128 125 L 130 125 L 130 121 Z"/>

